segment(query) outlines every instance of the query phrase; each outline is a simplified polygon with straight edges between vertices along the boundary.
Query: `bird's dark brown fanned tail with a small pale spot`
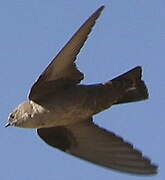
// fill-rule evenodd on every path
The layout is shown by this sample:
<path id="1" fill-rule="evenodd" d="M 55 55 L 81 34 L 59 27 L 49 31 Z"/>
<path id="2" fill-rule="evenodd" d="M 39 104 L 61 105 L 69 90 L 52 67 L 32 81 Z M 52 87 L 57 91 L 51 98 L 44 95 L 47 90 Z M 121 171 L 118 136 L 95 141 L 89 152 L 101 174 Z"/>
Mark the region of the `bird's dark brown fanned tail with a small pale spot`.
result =
<path id="1" fill-rule="evenodd" d="M 142 77 L 142 68 L 137 66 L 130 71 L 111 80 L 112 84 L 128 86 L 125 93 L 114 104 L 141 101 L 148 98 L 147 87 Z"/>

